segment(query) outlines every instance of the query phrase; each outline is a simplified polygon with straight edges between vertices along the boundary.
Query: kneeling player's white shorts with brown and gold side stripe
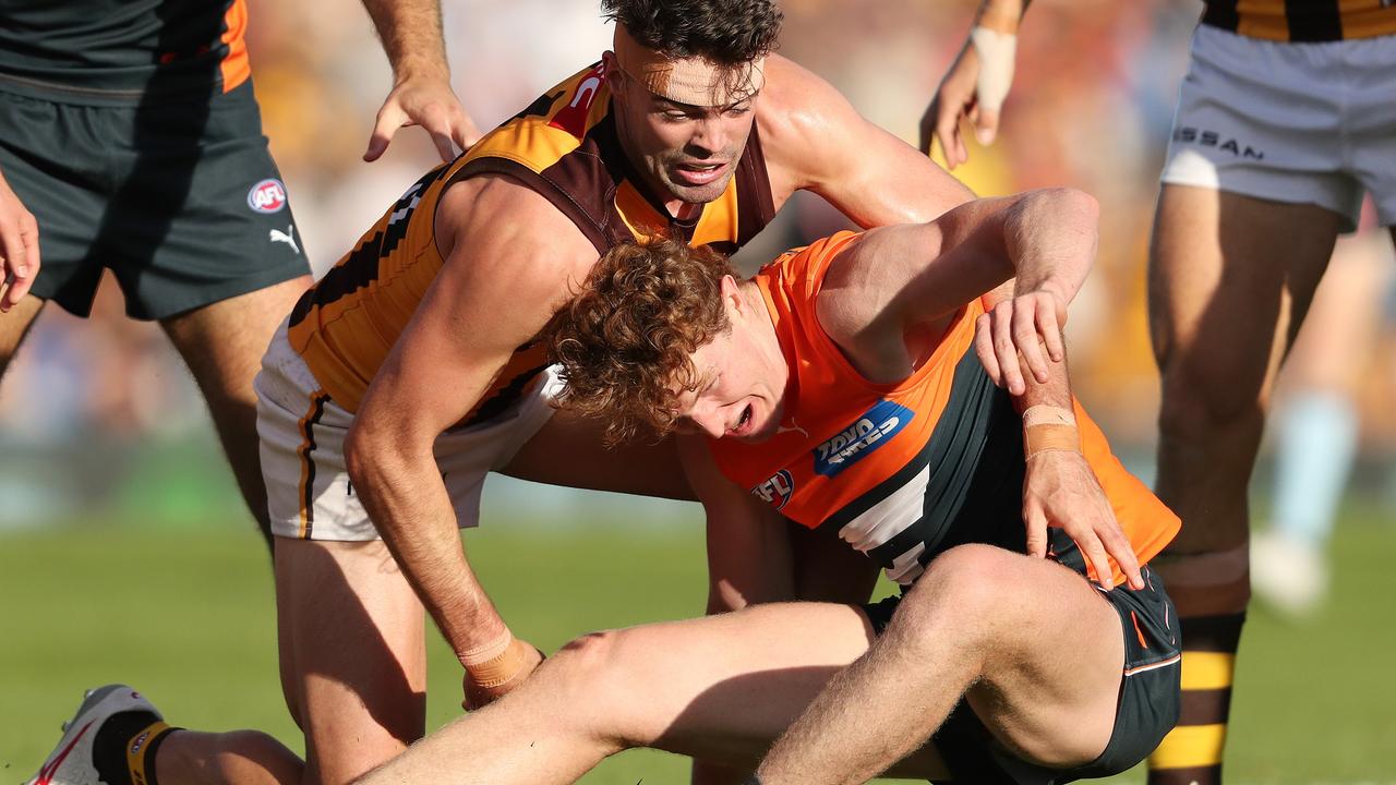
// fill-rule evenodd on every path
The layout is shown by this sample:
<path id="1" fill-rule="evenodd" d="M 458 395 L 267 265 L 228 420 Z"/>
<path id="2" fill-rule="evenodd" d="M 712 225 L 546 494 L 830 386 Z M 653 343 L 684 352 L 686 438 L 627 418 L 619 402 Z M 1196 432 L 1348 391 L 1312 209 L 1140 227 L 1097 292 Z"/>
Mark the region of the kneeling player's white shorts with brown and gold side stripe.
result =
<path id="1" fill-rule="evenodd" d="M 508 465 L 553 416 L 551 401 L 561 387 L 553 369 L 547 369 L 500 416 L 437 437 L 437 469 L 461 528 L 479 525 L 484 475 Z M 272 534 L 324 541 L 378 539 L 345 471 L 343 443 L 353 415 L 321 390 L 286 341 L 286 323 L 267 348 L 254 388 Z"/>

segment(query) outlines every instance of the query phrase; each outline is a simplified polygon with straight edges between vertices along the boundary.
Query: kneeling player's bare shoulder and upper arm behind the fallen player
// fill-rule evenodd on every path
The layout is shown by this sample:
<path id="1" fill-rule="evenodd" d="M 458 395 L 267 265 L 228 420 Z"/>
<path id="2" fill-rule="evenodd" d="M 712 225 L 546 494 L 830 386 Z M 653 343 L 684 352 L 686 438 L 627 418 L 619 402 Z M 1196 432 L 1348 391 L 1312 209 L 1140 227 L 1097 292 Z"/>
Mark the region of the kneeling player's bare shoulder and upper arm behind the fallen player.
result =
<path id="1" fill-rule="evenodd" d="M 757 126 L 778 208 L 808 189 L 870 228 L 930 221 L 974 197 L 814 73 L 772 54 L 766 74 Z"/>

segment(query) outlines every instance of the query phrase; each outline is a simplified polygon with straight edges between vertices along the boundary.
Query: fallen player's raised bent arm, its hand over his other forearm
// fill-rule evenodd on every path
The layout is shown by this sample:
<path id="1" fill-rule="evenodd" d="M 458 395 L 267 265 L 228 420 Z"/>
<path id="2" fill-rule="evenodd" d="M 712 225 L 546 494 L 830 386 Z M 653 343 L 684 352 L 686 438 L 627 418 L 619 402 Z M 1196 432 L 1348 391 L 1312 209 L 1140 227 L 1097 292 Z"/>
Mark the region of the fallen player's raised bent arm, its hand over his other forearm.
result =
<path id="1" fill-rule="evenodd" d="M 995 355 L 1023 352 L 1041 379 L 1047 362 L 1039 341 L 1048 358 L 1061 356 L 1067 303 L 1096 256 L 1097 211 L 1082 191 L 1051 189 L 976 200 L 930 223 L 870 230 L 831 265 L 819 321 L 842 346 L 867 358 L 860 370 L 868 379 L 899 380 L 941 335 L 945 320 L 1016 277 L 1016 296 L 995 307 L 1002 309 L 988 324 L 995 330 L 984 332 L 994 342 L 987 358 L 980 346 L 980 359 L 986 370 L 1012 365 L 1016 372 L 1016 359 L 1000 362 Z"/>

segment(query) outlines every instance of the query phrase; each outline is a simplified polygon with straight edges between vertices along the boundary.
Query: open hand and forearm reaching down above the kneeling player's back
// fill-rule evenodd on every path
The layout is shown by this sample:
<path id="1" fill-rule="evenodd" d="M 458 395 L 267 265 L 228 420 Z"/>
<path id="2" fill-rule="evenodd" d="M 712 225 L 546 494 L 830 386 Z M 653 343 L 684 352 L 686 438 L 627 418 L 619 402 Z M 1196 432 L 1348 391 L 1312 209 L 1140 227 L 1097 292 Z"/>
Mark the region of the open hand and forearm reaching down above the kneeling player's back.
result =
<path id="1" fill-rule="evenodd" d="M 364 161 L 377 161 L 398 129 L 422 126 L 441 161 L 480 138 L 475 120 L 451 91 L 451 67 L 441 38 L 440 0 L 363 0 L 392 64 L 392 92 L 378 109 Z"/>

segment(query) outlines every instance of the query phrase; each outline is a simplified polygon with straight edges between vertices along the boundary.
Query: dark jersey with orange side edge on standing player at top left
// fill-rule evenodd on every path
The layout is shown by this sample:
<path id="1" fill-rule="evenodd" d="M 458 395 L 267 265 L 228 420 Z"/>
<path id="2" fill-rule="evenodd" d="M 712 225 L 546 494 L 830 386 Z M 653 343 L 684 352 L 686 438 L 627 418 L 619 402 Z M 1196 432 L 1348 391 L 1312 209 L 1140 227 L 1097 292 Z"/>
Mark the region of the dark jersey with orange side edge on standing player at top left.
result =
<path id="1" fill-rule="evenodd" d="M 246 0 L 6 0 L 0 89 L 68 103 L 191 101 L 247 81 Z"/>

